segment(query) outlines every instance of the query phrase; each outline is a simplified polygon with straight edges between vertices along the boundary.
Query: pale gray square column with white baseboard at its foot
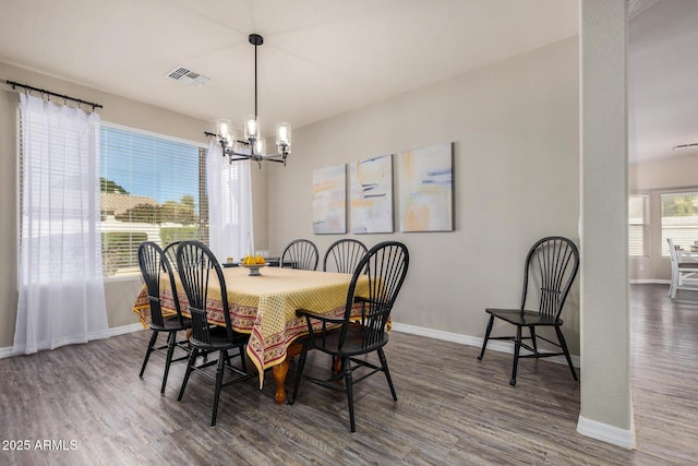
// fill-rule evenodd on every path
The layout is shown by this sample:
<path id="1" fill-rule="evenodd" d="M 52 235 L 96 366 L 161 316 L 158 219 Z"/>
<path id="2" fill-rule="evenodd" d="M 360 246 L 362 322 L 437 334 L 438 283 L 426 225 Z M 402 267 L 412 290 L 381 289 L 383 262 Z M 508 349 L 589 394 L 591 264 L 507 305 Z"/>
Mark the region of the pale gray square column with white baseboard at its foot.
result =
<path id="1" fill-rule="evenodd" d="M 577 430 L 633 449 L 627 0 L 579 3 L 582 383 Z"/>

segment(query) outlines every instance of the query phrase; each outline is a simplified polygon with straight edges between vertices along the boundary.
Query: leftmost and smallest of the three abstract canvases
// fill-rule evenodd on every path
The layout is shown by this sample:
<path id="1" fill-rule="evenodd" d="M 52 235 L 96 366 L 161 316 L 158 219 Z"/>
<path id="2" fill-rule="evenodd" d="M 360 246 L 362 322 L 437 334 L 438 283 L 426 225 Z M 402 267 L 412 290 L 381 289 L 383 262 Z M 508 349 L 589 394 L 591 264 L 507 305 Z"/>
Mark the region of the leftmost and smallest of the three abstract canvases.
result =
<path id="1" fill-rule="evenodd" d="M 313 232 L 347 232 L 347 168 L 344 164 L 313 170 Z"/>

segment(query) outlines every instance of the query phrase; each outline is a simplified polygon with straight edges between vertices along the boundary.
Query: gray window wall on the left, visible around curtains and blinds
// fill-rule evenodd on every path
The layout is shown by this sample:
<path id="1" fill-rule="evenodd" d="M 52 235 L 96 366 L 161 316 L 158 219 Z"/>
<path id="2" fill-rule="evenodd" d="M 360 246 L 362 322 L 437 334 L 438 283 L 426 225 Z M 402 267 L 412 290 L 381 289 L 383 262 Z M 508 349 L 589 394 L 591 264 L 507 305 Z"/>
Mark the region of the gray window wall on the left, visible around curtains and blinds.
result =
<path id="1" fill-rule="evenodd" d="M 112 94 L 80 86 L 65 81 L 23 70 L 0 62 L 0 80 L 16 81 L 35 87 L 47 88 L 59 94 L 80 97 L 104 105 L 98 110 L 103 121 L 123 124 L 193 142 L 206 144 L 204 131 L 214 129 L 207 122 L 184 115 L 174 113 Z M 0 348 L 11 347 L 16 319 L 16 105 L 17 93 L 9 86 L 0 85 Z M 252 170 L 255 216 L 255 244 L 266 249 L 266 172 Z M 105 283 L 107 313 L 110 327 L 119 327 L 137 322 L 131 311 L 141 288 L 141 279 L 113 279 Z"/>

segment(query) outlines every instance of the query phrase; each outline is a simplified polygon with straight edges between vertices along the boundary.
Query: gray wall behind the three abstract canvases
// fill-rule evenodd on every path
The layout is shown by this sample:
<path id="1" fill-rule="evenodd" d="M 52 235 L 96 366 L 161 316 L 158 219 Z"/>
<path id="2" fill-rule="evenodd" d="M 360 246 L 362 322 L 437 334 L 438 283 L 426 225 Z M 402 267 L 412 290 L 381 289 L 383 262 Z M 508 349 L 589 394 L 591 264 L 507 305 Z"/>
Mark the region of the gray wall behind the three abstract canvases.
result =
<path id="1" fill-rule="evenodd" d="M 347 236 L 409 247 L 395 322 L 481 337 L 486 306 L 518 303 L 534 240 L 578 242 L 578 57 L 561 41 L 296 131 L 289 165 L 269 167 L 272 250 L 304 237 L 322 254 L 338 238 L 312 232 L 313 169 L 453 142 L 455 231 Z M 577 287 L 565 334 L 578 355 Z"/>

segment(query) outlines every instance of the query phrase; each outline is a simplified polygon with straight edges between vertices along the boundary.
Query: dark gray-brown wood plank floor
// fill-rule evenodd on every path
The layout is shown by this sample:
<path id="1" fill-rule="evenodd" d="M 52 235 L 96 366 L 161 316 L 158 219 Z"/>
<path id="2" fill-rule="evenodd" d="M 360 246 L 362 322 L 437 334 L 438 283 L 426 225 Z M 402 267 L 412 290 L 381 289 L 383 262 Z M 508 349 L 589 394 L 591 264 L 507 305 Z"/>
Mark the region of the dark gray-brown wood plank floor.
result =
<path id="1" fill-rule="evenodd" d="M 262 391 L 256 380 L 224 389 L 212 429 L 212 381 L 193 374 L 178 403 L 174 363 L 160 396 L 164 359 L 139 379 L 149 332 L 136 332 L 1 359 L 0 464 L 695 464 L 698 298 L 666 290 L 631 287 L 634 451 L 576 432 L 579 384 L 566 366 L 524 360 L 510 387 L 510 355 L 479 362 L 479 348 L 399 332 L 386 347 L 399 401 L 382 374 L 360 383 L 356 433 L 344 394 L 304 383 L 278 406 L 270 373 Z M 322 356 L 309 356 L 315 372 L 328 368 Z"/>

